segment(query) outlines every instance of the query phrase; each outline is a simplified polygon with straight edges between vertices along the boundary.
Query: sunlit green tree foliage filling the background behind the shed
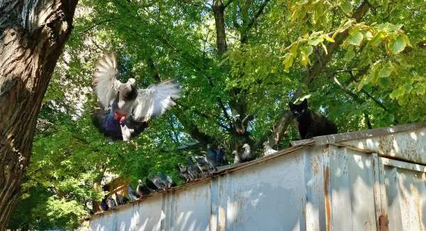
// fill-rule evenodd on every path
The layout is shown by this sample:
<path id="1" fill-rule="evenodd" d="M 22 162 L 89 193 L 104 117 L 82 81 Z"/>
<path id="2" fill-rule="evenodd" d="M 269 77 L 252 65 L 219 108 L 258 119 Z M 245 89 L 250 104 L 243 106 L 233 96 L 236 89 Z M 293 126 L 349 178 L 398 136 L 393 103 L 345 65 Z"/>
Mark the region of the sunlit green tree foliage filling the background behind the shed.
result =
<path id="1" fill-rule="evenodd" d="M 93 183 L 104 171 L 133 183 L 151 171 L 178 180 L 175 164 L 207 143 L 228 155 L 244 143 L 260 148 L 302 96 L 340 132 L 425 121 L 425 8 L 420 0 L 80 1 L 15 210 L 31 216 L 13 215 L 10 228 L 77 227 L 85 202 L 102 197 Z M 174 78 L 183 89 L 178 106 L 129 143 L 102 137 L 90 121 L 91 74 L 109 50 L 122 80 L 146 87 Z M 244 135 L 236 114 L 253 115 Z M 279 132 L 278 148 L 299 139 L 292 125 Z"/>

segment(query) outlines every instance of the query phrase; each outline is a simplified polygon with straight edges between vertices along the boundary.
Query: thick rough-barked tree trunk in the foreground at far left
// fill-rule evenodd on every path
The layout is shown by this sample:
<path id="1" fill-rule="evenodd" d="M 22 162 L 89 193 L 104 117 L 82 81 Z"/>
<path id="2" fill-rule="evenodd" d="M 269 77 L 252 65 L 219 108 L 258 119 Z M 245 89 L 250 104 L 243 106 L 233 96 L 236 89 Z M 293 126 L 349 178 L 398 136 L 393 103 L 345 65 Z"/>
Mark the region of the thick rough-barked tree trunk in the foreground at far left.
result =
<path id="1" fill-rule="evenodd" d="M 19 196 L 42 98 L 77 1 L 0 1 L 0 231 Z"/>

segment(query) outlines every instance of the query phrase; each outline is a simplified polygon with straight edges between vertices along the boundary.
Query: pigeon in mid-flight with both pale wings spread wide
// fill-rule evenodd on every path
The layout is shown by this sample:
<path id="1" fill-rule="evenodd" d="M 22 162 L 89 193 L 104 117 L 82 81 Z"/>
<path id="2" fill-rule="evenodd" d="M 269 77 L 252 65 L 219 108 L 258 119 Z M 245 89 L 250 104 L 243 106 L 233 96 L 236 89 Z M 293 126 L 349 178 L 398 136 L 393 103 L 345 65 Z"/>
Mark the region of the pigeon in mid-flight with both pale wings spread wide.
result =
<path id="1" fill-rule="evenodd" d="M 129 78 L 127 83 L 117 80 L 116 55 L 104 55 L 98 60 L 93 74 L 93 90 L 104 112 L 95 113 L 94 120 L 110 137 L 127 141 L 139 135 L 150 119 L 161 116 L 175 105 L 180 98 L 178 85 L 171 80 L 150 85 L 147 89 L 136 89 L 136 80 Z M 120 130 L 118 129 L 119 123 Z"/>

